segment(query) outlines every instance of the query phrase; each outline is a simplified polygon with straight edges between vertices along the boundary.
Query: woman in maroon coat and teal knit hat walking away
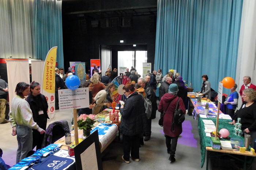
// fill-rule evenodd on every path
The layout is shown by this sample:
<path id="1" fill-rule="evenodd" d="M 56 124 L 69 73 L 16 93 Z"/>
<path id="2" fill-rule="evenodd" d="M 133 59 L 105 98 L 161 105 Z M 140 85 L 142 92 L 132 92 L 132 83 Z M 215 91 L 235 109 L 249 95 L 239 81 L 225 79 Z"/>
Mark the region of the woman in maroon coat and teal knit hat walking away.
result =
<path id="1" fill-rule="evenodd" d="M 173 112 L 176 108 L 176 104 L 178 102 L 178 86 L 177 84 L 170 84 L 168 93 L 164 94 L 160 100 L 158 111 L 165 111 L 165 115 L 163 117 L 163 133 L 165 133 L 165 143 L 167 147 L 167 153 L 170 154 L 169 160 L 171 162 L 175 161 L 175 151 L 177 146 L 177 141 L 179 135 L 182 133 L 181 124 L 174 124 L 174 130 L 172 131 L 172 119 Z M 185 107 L 182 99 L 180 98 L 178 107 L 185 113 Z"/>

